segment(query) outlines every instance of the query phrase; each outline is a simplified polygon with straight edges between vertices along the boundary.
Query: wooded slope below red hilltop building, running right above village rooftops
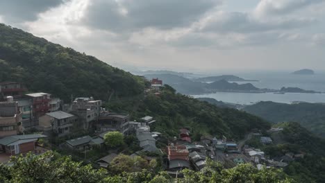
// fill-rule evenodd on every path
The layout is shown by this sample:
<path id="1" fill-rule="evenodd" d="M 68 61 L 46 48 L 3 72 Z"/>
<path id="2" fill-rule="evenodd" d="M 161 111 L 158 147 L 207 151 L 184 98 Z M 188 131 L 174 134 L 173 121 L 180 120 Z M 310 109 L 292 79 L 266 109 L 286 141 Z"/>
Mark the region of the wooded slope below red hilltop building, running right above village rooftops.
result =
<path id="1" fill-rule="evenodd" d="M 194 139 L 202 134 L 241 139 L 253 128 L 267 130 L 269 123 L 262 119 L 230 108 L 220 108 L 207 102 L 176 94 L 168 85 L 159 96 L 149 94 L 143 98 L 111 101 L 108 108 L 130 113 L 135 119 L 149 115 L 156 119 L 153 130 L 178 136 L 178 129 L 189 128 Z"/>

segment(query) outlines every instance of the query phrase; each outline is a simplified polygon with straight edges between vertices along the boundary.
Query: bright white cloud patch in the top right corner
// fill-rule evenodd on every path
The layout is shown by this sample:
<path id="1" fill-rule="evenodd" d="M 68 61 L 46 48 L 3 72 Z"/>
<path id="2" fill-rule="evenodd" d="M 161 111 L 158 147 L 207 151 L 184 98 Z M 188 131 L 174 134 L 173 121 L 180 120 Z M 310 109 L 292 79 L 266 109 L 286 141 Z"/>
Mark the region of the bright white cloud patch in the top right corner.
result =
<path id="1" fill-rule="evenodd" d="M 324 2 L 324 0 L 261 0 L 254 10 L 254 15 L 258 17 L 285 15 L 321 2 Z"/>

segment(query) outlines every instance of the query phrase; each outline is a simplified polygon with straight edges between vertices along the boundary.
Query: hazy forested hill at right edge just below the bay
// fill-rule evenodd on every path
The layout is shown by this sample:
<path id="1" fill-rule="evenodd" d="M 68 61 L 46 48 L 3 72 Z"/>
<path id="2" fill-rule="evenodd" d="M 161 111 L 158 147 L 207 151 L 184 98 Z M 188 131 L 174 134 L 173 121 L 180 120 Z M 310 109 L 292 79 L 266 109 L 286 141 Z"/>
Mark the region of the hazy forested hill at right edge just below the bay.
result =
<path id="1" fill-rule="evenodd" d="M 324 104 L 260 102 L 249 105 L 244 110 L 273 123 L 296 121 L 319 137 L 325 137 Z"/>

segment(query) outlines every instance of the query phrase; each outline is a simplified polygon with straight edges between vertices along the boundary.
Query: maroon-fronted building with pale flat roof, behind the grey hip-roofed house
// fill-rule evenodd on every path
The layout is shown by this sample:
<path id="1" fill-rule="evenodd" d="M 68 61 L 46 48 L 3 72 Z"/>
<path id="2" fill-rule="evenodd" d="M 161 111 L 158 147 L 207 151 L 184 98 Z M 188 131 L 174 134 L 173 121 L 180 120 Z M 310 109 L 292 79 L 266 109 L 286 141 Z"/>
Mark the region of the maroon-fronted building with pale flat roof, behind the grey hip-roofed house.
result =
<path id="1" fill-rule="evenodd" d="M 33 107 L 33 121 L 37 121 L 40 116 L 44 116 L 49 112 L 49 102 L 51 101 L 51 94 L 46 93 L 33 93 L 26 94 L 26 98 L 30 98 Z M 34 123 L 33 125 L 38 125 Z"/>

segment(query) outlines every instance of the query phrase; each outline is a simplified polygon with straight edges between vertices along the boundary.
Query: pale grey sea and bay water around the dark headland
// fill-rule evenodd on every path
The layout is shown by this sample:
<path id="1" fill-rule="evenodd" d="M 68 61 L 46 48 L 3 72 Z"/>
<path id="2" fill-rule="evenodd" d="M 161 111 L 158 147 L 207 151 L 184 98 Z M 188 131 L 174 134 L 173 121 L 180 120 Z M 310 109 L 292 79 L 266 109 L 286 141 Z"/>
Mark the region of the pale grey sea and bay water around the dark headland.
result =
<path id="1" fill-rule="evenodd" d="M 299 87 L 306 90 L 325 92 L 325 72 L 317 71 L 315 75 L 294 75 L 288 72 L 249 72 L 236 73 L 241 78 L 259 80 L 251 82 L 259 88 L 281 89 L 281 87 Z M 242 84 L 243 82 L 238 82 Z M 250 105 L 260 101 L 273 101 L 277 103 L 292 103 L 304 101 L 309 103 L 325 103 L 325 94 L 274 94 L 274 93 L 233 93 L 217 92 L 214 94 L 193 95 L 194 98 L 208 97 L 226 103 Z"/>

